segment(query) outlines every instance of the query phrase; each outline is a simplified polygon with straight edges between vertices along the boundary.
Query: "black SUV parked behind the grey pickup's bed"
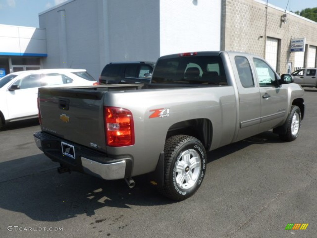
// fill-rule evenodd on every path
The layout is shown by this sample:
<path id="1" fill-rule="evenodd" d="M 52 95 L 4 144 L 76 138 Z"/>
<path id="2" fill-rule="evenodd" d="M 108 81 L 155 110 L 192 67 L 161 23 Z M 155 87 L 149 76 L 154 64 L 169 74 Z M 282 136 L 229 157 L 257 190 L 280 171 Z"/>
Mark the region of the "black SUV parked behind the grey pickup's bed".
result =
<path id="1" fill-rule="evenodd" d="M 150 83 L 154 64 L 154 62 L 109 63 L 101 71 L 99 83 Z"/>

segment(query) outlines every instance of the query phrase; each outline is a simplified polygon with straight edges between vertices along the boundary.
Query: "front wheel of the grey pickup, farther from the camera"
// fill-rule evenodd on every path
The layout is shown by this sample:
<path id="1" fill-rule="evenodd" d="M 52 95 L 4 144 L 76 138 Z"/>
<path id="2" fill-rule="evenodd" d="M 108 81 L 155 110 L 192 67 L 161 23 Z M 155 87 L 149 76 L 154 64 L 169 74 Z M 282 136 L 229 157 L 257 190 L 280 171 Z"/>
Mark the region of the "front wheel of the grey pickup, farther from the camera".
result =
<path id="1" fill-rule="evenodd" d="M 294 141 L 301 129 L 301 109 L 293 105 L 286 120 L 287 130 L 285 135 L 280 134 L 280 138 L 284 141 Z"/>

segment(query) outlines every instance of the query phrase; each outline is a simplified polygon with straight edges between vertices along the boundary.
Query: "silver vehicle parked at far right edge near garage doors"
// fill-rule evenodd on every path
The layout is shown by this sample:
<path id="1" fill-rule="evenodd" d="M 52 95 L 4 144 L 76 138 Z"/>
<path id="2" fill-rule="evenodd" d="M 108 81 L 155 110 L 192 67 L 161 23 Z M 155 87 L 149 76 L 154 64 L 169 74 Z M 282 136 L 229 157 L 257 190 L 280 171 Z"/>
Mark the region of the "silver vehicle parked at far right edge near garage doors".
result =
<path id="1" fill-rule="evenodd" d="M 300 84 L 302 87 L 317 88 L 317 68 L 298 69 L 292 73 L 294 83 Z"/>

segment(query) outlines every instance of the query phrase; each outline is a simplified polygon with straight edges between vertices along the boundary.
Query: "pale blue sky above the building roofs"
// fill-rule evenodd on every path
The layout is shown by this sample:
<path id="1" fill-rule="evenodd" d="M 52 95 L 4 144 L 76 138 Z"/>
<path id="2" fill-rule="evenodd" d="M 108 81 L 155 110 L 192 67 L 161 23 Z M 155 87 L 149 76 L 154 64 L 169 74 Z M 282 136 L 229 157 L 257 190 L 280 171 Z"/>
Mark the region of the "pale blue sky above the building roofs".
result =
<path id="1" fill-rule="evenodd" d="M 38 14 L 65 1 L 66 0 L 0 0 L 0 24 L 39 27 Z M 266 0 L 262 1 L 266 3 Z M 317 7 L 317 0 L 268 0 L 268 3 L 284 10 L 292 10 L 293 12 L 297 10 L 301 11 L 305 8 Z"/>

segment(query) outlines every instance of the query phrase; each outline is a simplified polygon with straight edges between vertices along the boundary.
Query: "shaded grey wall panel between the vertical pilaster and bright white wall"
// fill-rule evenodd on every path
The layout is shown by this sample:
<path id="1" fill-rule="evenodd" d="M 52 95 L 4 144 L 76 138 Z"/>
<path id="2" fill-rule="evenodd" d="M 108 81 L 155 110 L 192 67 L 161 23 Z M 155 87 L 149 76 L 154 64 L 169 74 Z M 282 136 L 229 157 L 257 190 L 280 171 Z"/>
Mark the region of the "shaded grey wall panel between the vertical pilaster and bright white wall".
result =
<path id="1" fill-rule="evenodd" d="M 108 1 L 109 61 L 156 61 L 159 0 Z"/>

